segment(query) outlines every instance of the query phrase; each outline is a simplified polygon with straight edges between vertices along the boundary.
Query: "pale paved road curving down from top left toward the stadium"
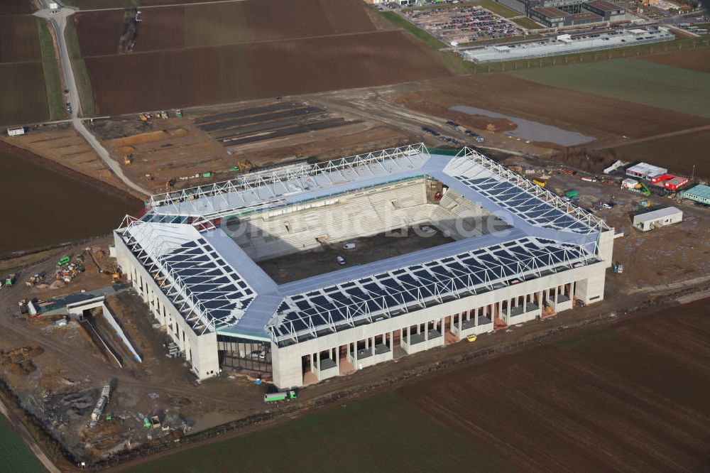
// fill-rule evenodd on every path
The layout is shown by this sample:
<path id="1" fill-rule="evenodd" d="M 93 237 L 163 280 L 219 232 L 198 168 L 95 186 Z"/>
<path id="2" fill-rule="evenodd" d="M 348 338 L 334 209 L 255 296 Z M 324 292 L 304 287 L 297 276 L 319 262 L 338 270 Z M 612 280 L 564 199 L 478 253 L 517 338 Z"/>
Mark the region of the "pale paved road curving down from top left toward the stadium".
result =
<path id="1" fill-rule="evenodd" d="M 114 172 L 118 178 L 124 182 L 124 184 L 131 187 L 131 189 L 141 192 L 144 195 L 151 195 L 151 191 L 146 190 L 146 188 L 133 183 L 125 174 L 124 170 L 121 169 L 121 165 L 116 163 L 111 156 L 109 156 L 109 151 L 107 151 L 96 136 L 94 136 L 84 125 L 84 122 L 79 118 L 79 113 L 82 110 L 81 99 L 79 96 L 79 89 L 77 87 L 77 82 L 74 77 L 74 70 L 72 69 L 72 60 L 69 55 L 69 48 L 67 48 L 67 42 L 64 38 L 65 27 L 67 26 L 67 18 L 76 13 L 75 9 L 62 7 L 59 13 L 52 13 L 49 7 L 50 0 L 42 0 L 43 9 L 37 11 L 35 16 L 47 19 L 52 27 L 54 28 L 55 37 L 57 38 L 57 45 L 59 48 L 59 64 L 62 68 L 62 75 L 65 81 L 65 89 L 69 89 L 69 102 L 72 104 L 72 113 L 70 114 L 70 121 L 74 128 L 77 129 L 79 134 L 86 139 L 89 145 L 94 148 L 99 158 L 108 166 L 108 168 Z"/>

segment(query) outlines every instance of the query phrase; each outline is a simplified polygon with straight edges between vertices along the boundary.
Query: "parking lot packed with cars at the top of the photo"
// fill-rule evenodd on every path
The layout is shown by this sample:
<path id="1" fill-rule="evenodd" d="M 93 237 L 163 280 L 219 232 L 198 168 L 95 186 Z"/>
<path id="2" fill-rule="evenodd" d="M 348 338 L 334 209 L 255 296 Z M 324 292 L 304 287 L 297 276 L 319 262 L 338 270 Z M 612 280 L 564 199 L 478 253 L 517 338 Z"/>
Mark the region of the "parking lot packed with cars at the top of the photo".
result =
<path id="1" fill-rule="evenodd" d="M 410 20 L 446 43 L 523 36 L 525 30 L 477 5 L 414 10 L 404 13 Z"/>

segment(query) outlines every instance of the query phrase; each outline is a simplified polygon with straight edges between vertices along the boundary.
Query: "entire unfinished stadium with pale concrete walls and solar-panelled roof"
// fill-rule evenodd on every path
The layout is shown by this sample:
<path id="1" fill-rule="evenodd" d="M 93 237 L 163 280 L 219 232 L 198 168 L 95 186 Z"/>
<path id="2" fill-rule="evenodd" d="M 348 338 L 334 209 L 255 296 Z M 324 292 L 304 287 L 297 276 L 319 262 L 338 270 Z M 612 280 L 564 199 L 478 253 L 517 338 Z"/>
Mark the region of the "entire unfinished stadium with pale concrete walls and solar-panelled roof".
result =
<path id="1" fill-rule="evenodd" d="M 114 241 L 198 378 L 289 388 L 602 300 L 613 229 L 419 144 L 154 195 Z"/>

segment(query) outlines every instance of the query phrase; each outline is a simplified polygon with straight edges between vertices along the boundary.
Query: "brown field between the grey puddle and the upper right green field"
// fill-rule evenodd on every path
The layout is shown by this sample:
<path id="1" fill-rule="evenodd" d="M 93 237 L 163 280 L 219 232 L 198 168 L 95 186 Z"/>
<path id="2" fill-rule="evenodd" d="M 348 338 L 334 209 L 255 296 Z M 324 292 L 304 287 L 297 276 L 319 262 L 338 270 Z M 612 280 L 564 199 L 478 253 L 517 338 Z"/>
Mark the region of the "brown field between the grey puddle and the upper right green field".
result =
<path id="1" fill-rule="evenodd" d="M 562 72 L 569 66 L 557 67 Z M 709 119 L 507 74 L 455 77 L 427 83 L 391 100 L 447 118 L 448 107 L 469 105 L 578 131 L 596 138 L 645 138 L 710 124 Z M 540 97 L 545 97 L 541 100 Z M 584 111 L 581 113 L 580 111 Z"/>

